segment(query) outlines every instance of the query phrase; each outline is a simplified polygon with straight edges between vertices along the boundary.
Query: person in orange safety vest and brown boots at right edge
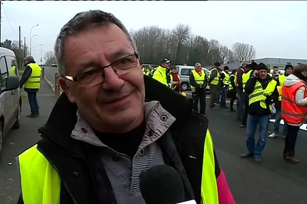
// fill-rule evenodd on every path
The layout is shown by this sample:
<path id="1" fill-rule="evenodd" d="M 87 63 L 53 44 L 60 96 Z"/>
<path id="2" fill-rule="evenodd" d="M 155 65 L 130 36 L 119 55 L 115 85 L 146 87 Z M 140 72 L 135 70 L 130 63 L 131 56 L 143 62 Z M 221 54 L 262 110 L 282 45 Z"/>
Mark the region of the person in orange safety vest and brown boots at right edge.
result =
<path id="1" fill-rule="evenodd" d="M 298 164 L 295 158 L 295 143 L 299 127 L 303 124 L 307 105 L 307 65 L 294 67 L 293 74 L 283 83 L 281 99 L 281 118 L 287 125 L 287 135 L 284 141 L 283 159 Z"/>

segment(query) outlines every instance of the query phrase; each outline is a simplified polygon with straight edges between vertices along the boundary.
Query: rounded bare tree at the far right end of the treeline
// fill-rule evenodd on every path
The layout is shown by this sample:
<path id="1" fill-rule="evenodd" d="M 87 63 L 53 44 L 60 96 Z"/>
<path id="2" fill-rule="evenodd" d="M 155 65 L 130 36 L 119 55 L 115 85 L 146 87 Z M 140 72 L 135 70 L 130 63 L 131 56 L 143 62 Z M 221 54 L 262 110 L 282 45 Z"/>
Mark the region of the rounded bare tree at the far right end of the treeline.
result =
<path id="1" fill-rule="evenodd" d="M 255 48 L 248 43 L 236 42 L 232 45 L 232 50 L 236 61 L 243 62 L 256 57 Z"/>

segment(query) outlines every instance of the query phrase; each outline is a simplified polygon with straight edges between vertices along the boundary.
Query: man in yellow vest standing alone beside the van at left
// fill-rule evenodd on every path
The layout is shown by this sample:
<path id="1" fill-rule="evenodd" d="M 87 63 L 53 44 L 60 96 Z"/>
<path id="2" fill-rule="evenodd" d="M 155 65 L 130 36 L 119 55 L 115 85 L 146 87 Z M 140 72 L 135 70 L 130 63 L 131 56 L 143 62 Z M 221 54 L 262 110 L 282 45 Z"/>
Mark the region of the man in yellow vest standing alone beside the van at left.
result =
<path id="1" fill-rule="evenodd" d="M 25 71 L 20 79 L 20 88 L 25 85 L 25 91 L 28 94 L 31 114 L 27 115 L 29 118 L 36 118 L 39 116 L 39 107 L 37 103 L 36 93 L 40 88 L 40 73 L 41 68 L 32 56 L 25 58 Z"/>

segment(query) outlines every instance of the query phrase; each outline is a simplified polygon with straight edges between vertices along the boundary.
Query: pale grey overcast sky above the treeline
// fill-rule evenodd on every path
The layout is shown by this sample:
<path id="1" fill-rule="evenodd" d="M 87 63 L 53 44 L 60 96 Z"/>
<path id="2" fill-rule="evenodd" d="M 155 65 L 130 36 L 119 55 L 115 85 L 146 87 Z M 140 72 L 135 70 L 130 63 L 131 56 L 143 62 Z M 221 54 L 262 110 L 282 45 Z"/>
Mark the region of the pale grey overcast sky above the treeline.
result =
<path id="1" fill-rule="evenodd" d="M 113 2 L 113 1 L 2 1 L 1 41 L 18 40 L 18 26 L 39 62 L 53 45 L 61 27 L 75 14 L 100 9 L 113 13 L 130 29 L 146 25 L 174 28 L 189 24 L 192 33 L 216 39 L 231 47 L 246 42 L 257 56 L 307 58 L 307 1 L 209 1 L 209 2 Z M 7 16 L 6 16 L 7 14 Z M 9 25 L 11 24 L 11 27 Z"/>

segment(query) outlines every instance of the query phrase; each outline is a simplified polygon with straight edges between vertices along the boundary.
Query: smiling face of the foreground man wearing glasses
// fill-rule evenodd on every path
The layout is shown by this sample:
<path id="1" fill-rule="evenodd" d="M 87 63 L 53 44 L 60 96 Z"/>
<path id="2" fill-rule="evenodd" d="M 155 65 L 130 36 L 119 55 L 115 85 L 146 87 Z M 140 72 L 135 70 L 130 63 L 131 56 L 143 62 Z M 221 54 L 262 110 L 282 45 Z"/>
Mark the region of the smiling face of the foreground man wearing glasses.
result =
<path id="1" fill-rule="evenodd" d="M 111 23 L 70 36 L 64 44 L 68 75 L 103 67 L 134 54 L 124 32 Z M 136 68 L 117 75 L 111 67 L 104 69 L 102 83 L 87 86 L 61 78 L 61 87 L 81 115 L 97 131 L 122 133 L 136 127 L 144 117 L 144 81 L 139 61 Z"/>

